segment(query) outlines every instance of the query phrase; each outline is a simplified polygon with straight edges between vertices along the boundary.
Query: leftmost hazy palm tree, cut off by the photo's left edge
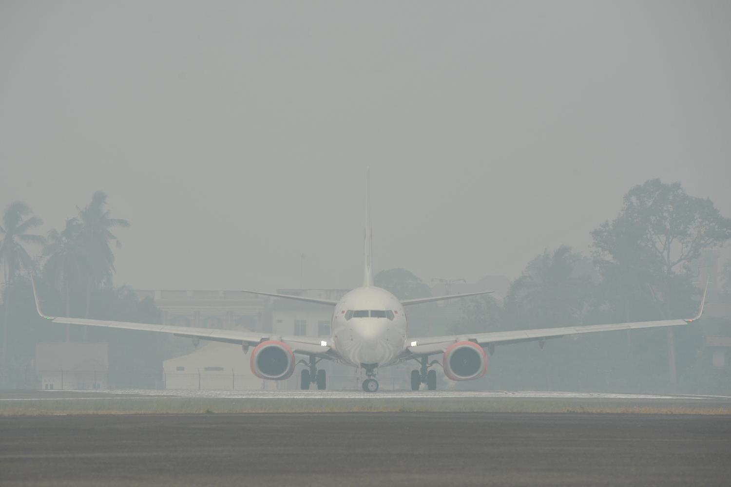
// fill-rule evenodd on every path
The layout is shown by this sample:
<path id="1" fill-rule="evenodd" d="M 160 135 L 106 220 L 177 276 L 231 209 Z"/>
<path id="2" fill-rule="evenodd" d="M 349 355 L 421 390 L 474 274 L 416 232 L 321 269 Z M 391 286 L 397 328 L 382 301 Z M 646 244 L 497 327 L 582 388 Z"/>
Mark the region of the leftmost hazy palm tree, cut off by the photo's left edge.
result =
<path id="1" fill-rule="evenodd" d="M 0 226 L 0 260 L 3 262 L 5 282 L 5 310 L 2 331 L 2 361 L 7 360 L 7 312 L 10 308 L 10 291 L 15 277 L 21 269 L 29 269 L 33 259 L 23 247 L 25 244 L 43 245 L 45 239 L 41 235 L 26 233 L 30 229 L 43 224 L 40 218 L 32 216 L 30 207 L 22 202 L 8 205 L 3 214 Z"/>

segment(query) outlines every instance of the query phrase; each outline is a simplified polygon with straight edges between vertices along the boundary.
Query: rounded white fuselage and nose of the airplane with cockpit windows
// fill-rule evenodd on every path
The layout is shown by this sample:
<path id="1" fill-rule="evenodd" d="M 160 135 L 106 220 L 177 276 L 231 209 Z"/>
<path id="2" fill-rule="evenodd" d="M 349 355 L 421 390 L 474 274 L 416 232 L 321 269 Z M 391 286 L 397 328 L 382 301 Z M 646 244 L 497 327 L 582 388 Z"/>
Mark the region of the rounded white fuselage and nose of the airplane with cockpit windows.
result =
<path id="1" fill-rule="evenodd" d="M 349 364 L 387 365 L 406 348 L 406 314 L 396 296 L 382 288 L 356 288 L 336 304 L 333 348 Z"/>

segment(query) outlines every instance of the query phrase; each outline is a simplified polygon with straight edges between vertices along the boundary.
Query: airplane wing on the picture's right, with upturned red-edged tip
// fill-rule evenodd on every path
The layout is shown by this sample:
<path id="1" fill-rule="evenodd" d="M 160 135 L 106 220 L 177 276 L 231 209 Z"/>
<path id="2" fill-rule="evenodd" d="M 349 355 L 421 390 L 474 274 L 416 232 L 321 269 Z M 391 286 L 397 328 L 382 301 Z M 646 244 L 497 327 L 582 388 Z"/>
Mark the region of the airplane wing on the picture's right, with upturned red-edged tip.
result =
<path id="1" fill-rule="evenodd" d="M 708 284 L 706 284 L 706 291 L 708 291 Z M 447 349 L 447 347 L 455 342 L 475 342 L 484 348 L 491 348 L 495 345 L 510 345 L 511 343 L 520 342 L 542 342 L 552 338 L 561 338 L 568 335 L 583 333 L 597 333 L 599 331 L 683 326 L 700 319 L 703 314 L 703 304 L 705 304 L 705 291 L 703 291 L 700 311 L 694 318 L 682 320 L 638 321 L 635 323 L 611 323 L 607 325 L 564 326 L 561 328 L 539 328 L 515 331 L 491 331 L 488 333 L 473 333 L 446 337 L 413 338 L 410 342 L 414 345 L 407 347 L 406 350 L 408 353 L 411 353 L 411 355 L 429 355 L 431 353 L 442 353 Z M 408 358 L 408 355 L 405 358 Z"/>

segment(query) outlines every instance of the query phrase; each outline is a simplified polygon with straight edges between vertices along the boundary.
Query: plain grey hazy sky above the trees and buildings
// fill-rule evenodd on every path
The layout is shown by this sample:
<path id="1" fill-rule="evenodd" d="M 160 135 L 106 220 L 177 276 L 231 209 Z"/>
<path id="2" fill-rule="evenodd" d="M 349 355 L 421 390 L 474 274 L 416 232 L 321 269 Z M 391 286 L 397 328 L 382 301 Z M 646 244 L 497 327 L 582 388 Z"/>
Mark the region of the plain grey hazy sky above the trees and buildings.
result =
<path id="1" fill-rule="evenodd" d="M 731 217 L 731 2 L 0 2 L 0 205 L 117 283 L 514 278 L 660 177 Z M 305 254 L 300 280 L 300 255 Z"/>

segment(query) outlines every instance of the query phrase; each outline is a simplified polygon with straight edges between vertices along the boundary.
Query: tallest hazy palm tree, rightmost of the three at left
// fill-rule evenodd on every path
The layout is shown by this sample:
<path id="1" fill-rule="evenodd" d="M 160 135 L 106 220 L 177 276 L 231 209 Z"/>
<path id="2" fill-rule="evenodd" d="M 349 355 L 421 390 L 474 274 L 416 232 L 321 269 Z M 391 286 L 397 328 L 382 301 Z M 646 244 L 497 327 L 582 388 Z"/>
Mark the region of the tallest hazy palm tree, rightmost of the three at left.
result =
<path id="1" fill-rule="evenodd" d="M 86 269 L 86 318 L 89 314 L 89 302 L 91 288 L 98 285 L 112 285 L 114 269 L 114 252 L 110 242 L 115 242 L 117 248 L 121 247 L 119 239 L 110 229 L 114 227 L 128 227 L 129 221 L 121 218 L 110 218 L 110 211 L 107 205 L 107 193 L 96 191 L 91 196 L 89 203 L 83 210 L 77 207 L 79 212 L 80 242 L 86 249 L 88 266 Z"/>

